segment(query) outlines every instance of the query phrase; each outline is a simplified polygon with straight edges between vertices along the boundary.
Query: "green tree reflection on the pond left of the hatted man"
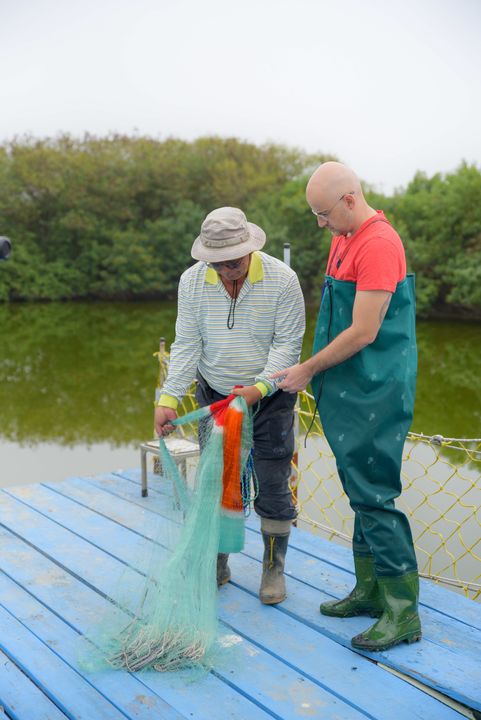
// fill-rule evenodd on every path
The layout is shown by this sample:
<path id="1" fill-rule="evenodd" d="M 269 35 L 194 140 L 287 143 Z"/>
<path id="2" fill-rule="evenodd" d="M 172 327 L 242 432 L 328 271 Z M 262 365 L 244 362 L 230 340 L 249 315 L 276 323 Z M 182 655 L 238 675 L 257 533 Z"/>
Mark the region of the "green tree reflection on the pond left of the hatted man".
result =
<path id="1" fill-rule="evenodd" d="M 152 353 L 174 322 L 173 304 L 0 307 L 0 435 L 114 446 L 150 436 Z"/>

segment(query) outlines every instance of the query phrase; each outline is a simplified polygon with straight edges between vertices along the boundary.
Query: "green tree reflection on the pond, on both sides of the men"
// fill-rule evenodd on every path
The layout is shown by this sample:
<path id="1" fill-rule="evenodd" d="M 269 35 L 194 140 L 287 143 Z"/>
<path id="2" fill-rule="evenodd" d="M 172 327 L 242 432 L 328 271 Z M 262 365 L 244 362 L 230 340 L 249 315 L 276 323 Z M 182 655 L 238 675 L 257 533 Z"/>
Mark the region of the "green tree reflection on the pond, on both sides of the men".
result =
<path id="1" fill-rule="evenodd" d="M 136 443 L 150 436 L 158 338 L 174 303 L 0 306 L 0 438 L 21 445 Z M 311 313 L 304 355 L 312 344 Z M 413 430 L 481 435 L 481 326 L 418 324 Z"/>

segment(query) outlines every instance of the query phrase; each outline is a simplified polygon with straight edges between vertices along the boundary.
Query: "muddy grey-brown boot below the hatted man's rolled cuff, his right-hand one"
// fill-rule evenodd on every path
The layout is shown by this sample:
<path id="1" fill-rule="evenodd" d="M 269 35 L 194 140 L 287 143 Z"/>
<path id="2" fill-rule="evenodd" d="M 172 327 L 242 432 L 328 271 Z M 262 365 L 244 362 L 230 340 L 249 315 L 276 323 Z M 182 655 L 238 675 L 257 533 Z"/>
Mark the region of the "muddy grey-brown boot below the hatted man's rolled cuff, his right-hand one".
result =
<path id="1" fill-rule="evenodd" d="M 277 605 L 287 597 L 284 562 L 291 524 L 290 520 L 261 518 L 264 558 L 259 597 L 264 605 Z"/>

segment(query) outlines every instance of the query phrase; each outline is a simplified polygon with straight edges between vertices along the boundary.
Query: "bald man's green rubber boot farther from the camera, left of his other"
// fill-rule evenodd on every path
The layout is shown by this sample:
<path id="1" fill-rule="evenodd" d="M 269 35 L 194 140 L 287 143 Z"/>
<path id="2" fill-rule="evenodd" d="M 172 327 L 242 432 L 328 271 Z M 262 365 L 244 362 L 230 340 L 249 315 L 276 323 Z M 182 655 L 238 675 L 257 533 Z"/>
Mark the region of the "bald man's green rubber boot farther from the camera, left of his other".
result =
<path id="1" fill-rule="evenodd" d="M 319 610 L 323 615 L 331 617 L 354 617 L 370 615 L 380 617 L 384 605 L 379 595 L 374 558 L 372 555 L 354 555 L 356 585 L 349 595 L 342 600 L 328 600 L 322 603 Z"/>

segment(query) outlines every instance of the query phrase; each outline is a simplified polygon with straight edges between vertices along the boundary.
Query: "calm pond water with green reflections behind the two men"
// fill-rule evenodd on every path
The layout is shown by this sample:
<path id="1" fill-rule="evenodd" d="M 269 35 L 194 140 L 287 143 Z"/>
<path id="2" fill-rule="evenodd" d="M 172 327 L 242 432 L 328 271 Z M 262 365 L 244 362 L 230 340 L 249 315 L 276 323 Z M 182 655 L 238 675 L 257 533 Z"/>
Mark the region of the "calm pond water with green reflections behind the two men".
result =
<path id="1" fill-rule="evenodd" d="M 312 345 L 315 315 L 314 310 L 308 313 L 303 357 Z M 172 342 L 175 316 L 174 303 L 158 302 L 0 306 L 0 486 L 138 467 L 138 443 L 152 437 L 157 379 L 153 353 L 159 337 L 165 337 L 167 346 Z M 417 335 L 412 430 L 481 437 L 481 325 L 422 321 Z M 313 520 L 349 534 L 350 509 L 341 497 L 332 460 L 316 459 L 320 452 L 330 452 L 319 442 L 309 440 L 300 458 L 301 465 L 311 469 L 299 498 Z M 420 460 L 405 466 L 416 482 L 411 484 L 406 476 L 401 503 L 404 509 L 419 506 L 412 526 L 422 547 L 420 566 L 449 577 L 459 572 L 458 577 L 474 581 L 479 561 L 463 548 L 471 546 L 479 554 L 476 513 L 466 516 L 462 532 L 451 533 L 451 526 L 463 521 L 466 507 L 481 502 L 479 464 L 463 471 L 466 481 L 451 478 L 449 467 L 446 471 L 441 463 L 424 475 L 424 466 L 432 465 L 432 449 L 424 446 L 416 452 Z M 324 478 L 320 492 L 338 498 L 331 517 L 309 499 L 317 482 L 312 469 Z M 452 503 L 463 494 L 464 504 Z M 435 525 L 443 513 L 445 528 Z M 437 530 L 450 540 L 436 552 Z M 452 557 L 462 558 L 457 570 L 447 567 Z"/>

